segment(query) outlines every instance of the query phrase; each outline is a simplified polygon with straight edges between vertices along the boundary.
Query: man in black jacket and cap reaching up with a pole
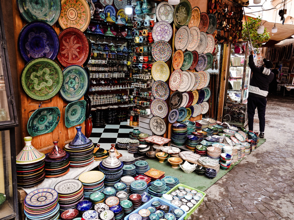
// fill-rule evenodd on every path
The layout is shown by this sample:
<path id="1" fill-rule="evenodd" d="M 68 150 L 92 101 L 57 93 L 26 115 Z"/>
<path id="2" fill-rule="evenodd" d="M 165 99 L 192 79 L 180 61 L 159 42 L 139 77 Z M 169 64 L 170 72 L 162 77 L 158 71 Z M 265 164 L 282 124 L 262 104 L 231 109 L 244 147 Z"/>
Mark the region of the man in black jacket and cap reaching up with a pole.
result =
<path id="1" fill-rule="evenodd" d="M 254 64 L 253 54 L 254 51 L 251 51 L 248 61 L 252 71 L 247 99 L 248 127 L 249 131 L 253 131 L 253 119 L 257 107 L 260 130 L 259 137 L 264 138 L 266 96 L 268 95 L 268 85 L 274 78 L 273 72 L 270 71 L 273 63 L 270 60 L 263 59 L 262 66 L 257 67 Z"/>

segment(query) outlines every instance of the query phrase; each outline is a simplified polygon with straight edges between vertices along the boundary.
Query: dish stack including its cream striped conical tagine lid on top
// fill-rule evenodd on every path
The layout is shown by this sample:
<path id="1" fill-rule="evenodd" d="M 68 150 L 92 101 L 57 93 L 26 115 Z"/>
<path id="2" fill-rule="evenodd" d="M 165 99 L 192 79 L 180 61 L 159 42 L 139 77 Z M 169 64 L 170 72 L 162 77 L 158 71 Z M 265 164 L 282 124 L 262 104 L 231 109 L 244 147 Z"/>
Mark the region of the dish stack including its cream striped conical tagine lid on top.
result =
<path id="1" fill-rule="evenodd" d="M 31 145 L 32 137 L 25 137 L 26 145 L 16 157 L 17 186 L 31 187 L 45 179 L 44 153 Z"/>

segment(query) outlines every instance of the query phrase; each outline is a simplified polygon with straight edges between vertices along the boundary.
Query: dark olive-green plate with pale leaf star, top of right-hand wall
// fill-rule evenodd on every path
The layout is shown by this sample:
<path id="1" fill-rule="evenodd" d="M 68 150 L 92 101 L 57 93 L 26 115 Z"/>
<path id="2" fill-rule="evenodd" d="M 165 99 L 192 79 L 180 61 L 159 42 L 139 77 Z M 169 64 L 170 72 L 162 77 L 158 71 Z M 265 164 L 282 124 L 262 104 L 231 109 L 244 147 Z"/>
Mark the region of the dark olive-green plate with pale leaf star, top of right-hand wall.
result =
<path id="1" fill-rule="evenodd" d="M 181 0 L 179 4 L 175 6 L 173 12 L 173 22 L 177 28 L 188 25 L 191 19 L 192 7 L 188 0 Z"/>

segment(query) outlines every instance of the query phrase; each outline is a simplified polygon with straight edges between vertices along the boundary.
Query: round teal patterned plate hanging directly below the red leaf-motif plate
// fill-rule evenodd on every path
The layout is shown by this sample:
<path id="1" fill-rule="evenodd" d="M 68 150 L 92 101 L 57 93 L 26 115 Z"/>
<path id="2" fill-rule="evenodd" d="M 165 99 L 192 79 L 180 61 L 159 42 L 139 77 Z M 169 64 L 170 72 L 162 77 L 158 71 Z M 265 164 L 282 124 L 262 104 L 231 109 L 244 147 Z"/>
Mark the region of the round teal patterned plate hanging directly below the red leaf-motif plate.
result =
<path id="1" fill-rule="evenodd" d="M 85 69 L 78 65 L 71 65 L 63 70 L 63 84 L 60 95 L 66 101 L 81 99 L 88 88 L 88 75 Z"/>

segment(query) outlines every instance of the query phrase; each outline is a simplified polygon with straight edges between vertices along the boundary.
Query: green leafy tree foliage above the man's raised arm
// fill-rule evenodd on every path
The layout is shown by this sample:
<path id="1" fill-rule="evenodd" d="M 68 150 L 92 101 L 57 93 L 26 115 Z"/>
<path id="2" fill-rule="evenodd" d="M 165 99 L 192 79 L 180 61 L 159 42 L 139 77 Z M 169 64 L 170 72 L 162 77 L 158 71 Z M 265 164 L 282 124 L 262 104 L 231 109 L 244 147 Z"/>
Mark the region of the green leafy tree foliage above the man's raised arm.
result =
<path id="1" fill-rule="evenodd" d="M 258 18 L 256 19 L 251 17 L 247 18 L 247 24 L 248 24 L 248 29 L 249 29 L 253 48 L 261 47 L 262 42 L 268 41 L 270 39 L 269 32 L 266 31 L 266 28 L 264 28 L 264 32 L 262 34 L 257 33 L 257 28 L 260 25 L 260 22 L 261 22 L 260 16 L 258 16 Z M 243 40 L 249 41 L 249 35 L 248 35 L 246 22 L 243 24 L 242 38 Z"/>

